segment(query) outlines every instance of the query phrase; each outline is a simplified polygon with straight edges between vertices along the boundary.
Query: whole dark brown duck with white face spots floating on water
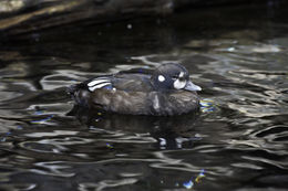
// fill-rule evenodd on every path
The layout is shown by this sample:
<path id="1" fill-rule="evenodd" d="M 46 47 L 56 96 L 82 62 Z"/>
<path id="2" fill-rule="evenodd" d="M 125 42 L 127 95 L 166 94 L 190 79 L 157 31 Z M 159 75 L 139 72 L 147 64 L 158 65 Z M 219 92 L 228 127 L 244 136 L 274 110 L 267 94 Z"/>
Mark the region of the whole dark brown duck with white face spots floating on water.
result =
<path id="1" fill-rule="evenodd" d="M 134 68 L 97 76 L 69 87 L 76 104 L 119 114 L 172 116 L 199 108 L 188 71 L 179 64 Z"/>

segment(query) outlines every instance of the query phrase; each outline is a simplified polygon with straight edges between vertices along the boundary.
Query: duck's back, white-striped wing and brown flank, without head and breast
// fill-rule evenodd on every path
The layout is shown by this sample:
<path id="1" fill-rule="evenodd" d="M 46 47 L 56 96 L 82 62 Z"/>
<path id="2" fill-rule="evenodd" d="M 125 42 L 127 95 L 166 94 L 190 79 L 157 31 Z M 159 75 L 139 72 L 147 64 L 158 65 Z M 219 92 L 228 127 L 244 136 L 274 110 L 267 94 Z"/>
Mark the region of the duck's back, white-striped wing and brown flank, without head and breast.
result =
<path id="1" fill-rule="evenodd" d="M 121 72 L 88 79 L 71 86 L 69 92 L 82 106 L 127 114 L 147 106 L 145 98 L 153 92 L 150 77 L 150 74 Z"/>

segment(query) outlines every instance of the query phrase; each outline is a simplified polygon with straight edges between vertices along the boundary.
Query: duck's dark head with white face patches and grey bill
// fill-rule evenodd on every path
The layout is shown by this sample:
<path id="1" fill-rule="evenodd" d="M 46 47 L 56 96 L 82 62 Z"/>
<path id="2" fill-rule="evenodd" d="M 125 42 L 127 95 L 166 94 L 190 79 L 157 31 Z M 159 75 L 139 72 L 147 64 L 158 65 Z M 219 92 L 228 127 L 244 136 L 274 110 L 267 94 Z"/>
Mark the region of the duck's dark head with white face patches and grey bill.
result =
<path id="1" fill-rule="evenodd" d="M 151 82 L 160 91 L 185 89 L 195 92 L 202 89 L 191 82 L 189 73 L 183 65 L 174 63 L 158 66 L 154 71 Z"/>

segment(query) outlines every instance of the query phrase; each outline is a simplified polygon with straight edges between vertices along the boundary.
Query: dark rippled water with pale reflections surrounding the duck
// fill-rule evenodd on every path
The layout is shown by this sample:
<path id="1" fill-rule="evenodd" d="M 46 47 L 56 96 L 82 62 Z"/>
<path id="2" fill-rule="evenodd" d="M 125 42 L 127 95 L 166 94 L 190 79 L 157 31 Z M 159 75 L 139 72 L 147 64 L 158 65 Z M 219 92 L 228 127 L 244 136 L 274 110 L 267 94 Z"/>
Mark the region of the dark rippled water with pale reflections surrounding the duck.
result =
<path id="1" fill-rule="evenodd" d="M 288 189 L 288 9 L 192 10 L 14 36 L 0 49 L 0 190 Z M 199 114 L 73 108 L 65 87 L 181 62 Z"/>

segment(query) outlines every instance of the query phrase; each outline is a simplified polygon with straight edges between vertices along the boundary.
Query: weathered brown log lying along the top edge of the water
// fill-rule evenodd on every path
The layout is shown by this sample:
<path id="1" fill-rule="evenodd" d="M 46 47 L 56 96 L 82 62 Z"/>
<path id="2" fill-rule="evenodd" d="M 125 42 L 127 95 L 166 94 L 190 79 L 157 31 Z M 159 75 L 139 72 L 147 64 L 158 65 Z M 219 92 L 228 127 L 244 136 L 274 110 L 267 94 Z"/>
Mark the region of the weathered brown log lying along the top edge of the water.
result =
<path id="1" fill-rule="evenodd" d="M 186 6 L 256 0 L 1 0 L 0 32 L 19 34 L 93 20 L 116 21 L 136 15 L 166 15 Z"/>

